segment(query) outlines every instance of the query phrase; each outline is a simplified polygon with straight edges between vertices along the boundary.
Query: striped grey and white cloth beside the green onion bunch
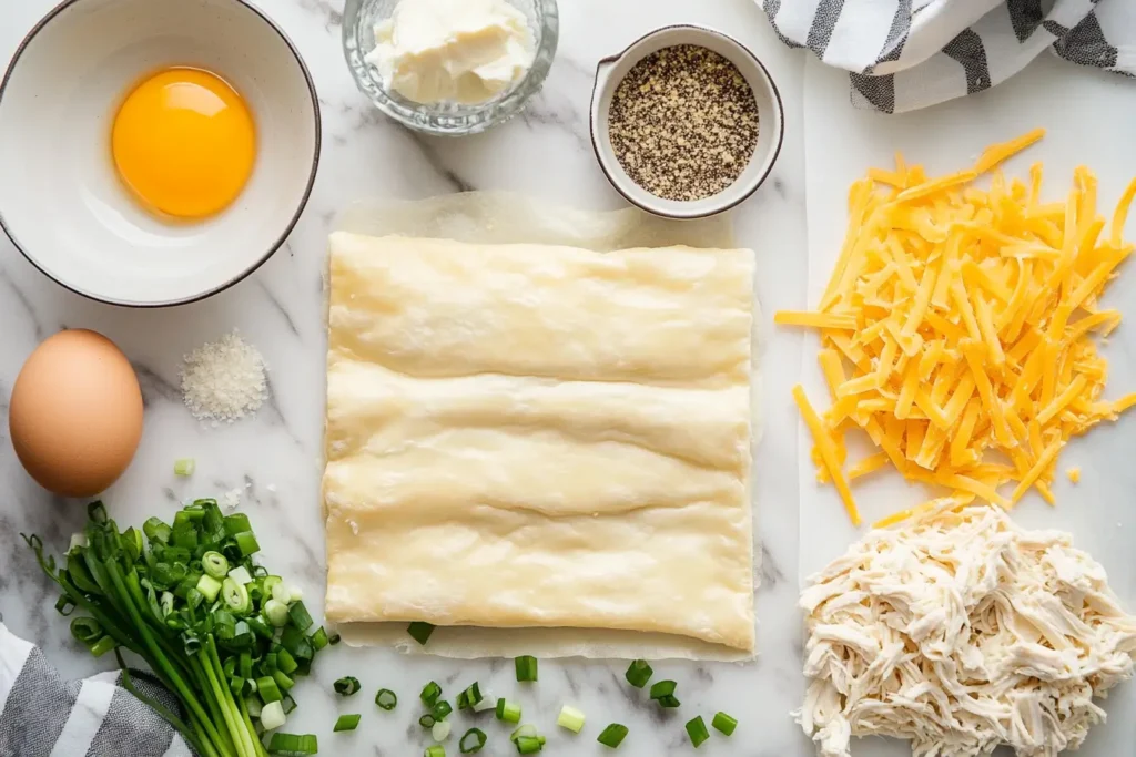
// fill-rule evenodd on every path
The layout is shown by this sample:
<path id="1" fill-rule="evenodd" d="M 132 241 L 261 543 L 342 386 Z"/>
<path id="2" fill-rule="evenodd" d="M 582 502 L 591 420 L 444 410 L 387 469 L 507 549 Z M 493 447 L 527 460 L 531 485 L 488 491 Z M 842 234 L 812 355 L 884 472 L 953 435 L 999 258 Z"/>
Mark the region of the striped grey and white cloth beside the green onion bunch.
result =
<path id="1" fill-rule="evenodd" d="M 0 623 L 0 757 L 191 757 L 164 720 L 116 685 L 120 675 L 64 681 L 39 647 Z M 177 712 L 148 674 L 131 681 Z"/>

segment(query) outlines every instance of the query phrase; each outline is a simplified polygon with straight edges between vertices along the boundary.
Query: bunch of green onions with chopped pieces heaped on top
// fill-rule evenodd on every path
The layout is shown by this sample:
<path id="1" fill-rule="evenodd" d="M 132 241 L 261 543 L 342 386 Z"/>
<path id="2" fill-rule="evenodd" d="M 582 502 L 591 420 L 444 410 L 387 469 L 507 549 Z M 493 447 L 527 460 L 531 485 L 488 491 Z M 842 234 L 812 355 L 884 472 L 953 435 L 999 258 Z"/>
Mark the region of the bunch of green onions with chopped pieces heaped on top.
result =
<path id="1" fill-rule="evenodd" d="M 261 739 L 285 723 L 295 678 L 334 640 L 312 628 L 298 590 L 252 562 L 260 546 L 245 515 L 198 499 L 173 525 L 151 518 L 142 532 L 119 532 L 95 502 L 59 569 L 37 536 L 24 539 L 62 590 L 56 608 L 85 613 L 72 621 L 72 634 L 97 657 L 114 650 L 123 685 L 199 755 L 316 754 L 311 734 L 277 732 L 267 748 Z M 181 713 L 133 685 L 120 649 L 145 661 Z"/>

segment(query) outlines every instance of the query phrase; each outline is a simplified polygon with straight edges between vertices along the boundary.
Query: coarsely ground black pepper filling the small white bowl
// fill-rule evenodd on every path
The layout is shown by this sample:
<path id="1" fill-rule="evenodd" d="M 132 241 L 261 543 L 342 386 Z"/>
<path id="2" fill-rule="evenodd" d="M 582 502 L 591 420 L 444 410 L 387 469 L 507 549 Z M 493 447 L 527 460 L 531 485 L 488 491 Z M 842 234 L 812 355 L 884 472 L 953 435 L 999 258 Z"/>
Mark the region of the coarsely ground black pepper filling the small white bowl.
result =
<path id="1" fill-rule="evenodd" d="M 677 44 L 627 72 L 608 132 L 616 159 L 641 187 L 665 200 L 702 200 L 733 184 L 753 157 L 758 103 L 728 59 Z"/>

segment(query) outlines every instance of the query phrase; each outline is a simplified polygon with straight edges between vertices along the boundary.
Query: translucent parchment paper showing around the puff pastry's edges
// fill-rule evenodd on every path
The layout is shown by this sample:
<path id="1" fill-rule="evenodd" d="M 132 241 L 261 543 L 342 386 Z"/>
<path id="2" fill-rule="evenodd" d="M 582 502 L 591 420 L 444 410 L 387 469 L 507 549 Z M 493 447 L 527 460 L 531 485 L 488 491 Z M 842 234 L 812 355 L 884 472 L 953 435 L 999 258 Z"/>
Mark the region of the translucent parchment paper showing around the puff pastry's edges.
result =
<path id="1" fill-rule="evenodd" d="M 710 219 L 673 221 L 638 210 L 586 211 L 566 208 L 506 192 L 466 192 L 421 201 L 360 200 L 336 218 L 334 229 L 370 236 L 414 236 L 454 239 L 478 244 L 570 245 L 611 252 L 628 247 L 734 247 L 732 224 L 727 216 Z M 326 317 L 326 312 L 325 312 Z M 760 354 L 758 323 L 760 312 L 754 301 L 754 338 L 751 354 Z M 751 371 L 751 445 L 761 436 L 760 373 Z M 750 504 L 753 506 L 753 487 Z M 754 531 L 757 524 L 754 524 Z M 754 550 L 753 589 L 761 575 Z M 676 607 L 675 612 L 682 612 Z M 492 629 L 437 626 L 425 647 L 407 636 L 407 624 L 344 623 L 340 636 L 352 646 L 393 647 L 406 654 L 474 659 L 478 657 L 592 657 L 592 658 L 680 658 L 742 661 L 750 655 L 699 639 L 666 633 L 633 631 L 531 628 Z"/>

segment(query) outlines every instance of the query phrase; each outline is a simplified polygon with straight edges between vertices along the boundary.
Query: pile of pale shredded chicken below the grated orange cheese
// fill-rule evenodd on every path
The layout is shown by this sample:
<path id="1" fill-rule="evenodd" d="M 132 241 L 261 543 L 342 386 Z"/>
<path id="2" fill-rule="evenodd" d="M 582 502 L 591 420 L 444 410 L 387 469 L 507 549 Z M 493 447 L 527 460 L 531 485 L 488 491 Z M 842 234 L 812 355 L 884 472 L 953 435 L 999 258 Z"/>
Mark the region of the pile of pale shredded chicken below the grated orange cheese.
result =
<path id="1" fill-rule="evenodd" d="M 810 684 L 794 716 L 822 757 L 849 757 L 853 735 L 909 739 L 914 757 L 1052 757 L 1104 720 L 1093 698 L 1136 657 L 1104 569 L 985 504 L 871 531 L 800 604 Z"/>

